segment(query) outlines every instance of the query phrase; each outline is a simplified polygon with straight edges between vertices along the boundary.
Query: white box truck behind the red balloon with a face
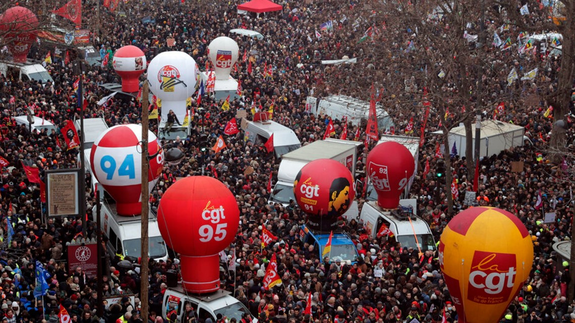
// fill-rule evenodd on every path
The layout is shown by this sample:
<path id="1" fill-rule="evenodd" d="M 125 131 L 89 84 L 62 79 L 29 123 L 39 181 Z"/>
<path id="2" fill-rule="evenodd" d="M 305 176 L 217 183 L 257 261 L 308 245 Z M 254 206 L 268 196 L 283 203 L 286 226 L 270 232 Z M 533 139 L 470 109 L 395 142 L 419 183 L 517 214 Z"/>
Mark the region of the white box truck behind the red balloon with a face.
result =
<path id="1" fill-rule="evenodd" d="M 355 178 L 355 164 L 357 161 L 357 147 L 362 145 L 357 141 L 327 139 L 314 141 L 282 156 L 279 163 L 278 182 L 275 183 L 268 203 L 281 203 L 289 205 L 290 200 L 296 200 L 293 194 L 293 182 L 298 172 L 310 161 L 316 159 L 333 159 L 339 161 L 351 171 Z M 356 217 L 358 215 L 357 203 L 351 205 L 344 217 Z"/>

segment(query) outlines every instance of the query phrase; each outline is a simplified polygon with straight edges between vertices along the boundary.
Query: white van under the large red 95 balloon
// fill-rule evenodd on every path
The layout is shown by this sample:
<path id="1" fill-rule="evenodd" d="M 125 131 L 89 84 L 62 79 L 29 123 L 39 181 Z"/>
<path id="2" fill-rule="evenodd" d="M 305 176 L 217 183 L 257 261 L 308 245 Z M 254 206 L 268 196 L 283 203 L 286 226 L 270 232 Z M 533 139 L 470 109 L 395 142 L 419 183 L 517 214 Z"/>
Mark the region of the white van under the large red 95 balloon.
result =
<path id="1" fill-rule="evenodd" d="M 184 315 L 186 306 L 190 305 L 196 315 L 196 321 L 204 322 L 210 318 L 216 322 L 218 316 L 225 317 L 229 321 L 235 318 L 240 322 L 244 316 L 250 316 L 250 321 L 257 323 L 258 320 L 250 315 L 247 307 L 232 296 L 229 291 L 218 290 L 208 294 L 190 294 L 182 289 L 181 285 L 169 287 L 164 293 L 162 302 L 162 316 L 168 318 L 175 313 L 175 322 L 187 323 Z"/>

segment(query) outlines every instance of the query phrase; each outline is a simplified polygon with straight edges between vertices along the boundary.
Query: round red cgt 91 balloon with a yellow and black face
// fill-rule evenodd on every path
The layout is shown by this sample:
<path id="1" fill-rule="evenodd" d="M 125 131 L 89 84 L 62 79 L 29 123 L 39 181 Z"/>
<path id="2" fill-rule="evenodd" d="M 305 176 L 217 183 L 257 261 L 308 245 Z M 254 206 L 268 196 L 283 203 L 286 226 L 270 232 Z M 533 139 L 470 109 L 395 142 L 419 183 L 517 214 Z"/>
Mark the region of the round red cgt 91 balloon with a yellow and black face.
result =
<path id="1" fill-rule="evenodd" d="M 297 204 L 309 214 L 308 225 L 329 230 L 354 201 L 353 184 L 350 170 L 333 159 L 317 159 L 301 168 L 293 191 Z"/>

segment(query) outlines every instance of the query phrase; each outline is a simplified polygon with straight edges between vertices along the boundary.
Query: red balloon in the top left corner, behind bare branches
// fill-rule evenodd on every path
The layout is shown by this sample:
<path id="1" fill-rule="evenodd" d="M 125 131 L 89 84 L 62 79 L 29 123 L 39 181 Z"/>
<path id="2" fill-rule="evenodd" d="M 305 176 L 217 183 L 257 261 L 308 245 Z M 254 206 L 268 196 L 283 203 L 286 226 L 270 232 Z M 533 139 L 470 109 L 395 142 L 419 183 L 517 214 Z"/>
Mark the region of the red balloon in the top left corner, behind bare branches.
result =
<path id="1" fill-rule="evenodd" d="M 11 7 L 0 16 L 0 33 L 15 63 L 26 63 L 30 47 L 36 41 L 38 18 L 25 7 Z"/>

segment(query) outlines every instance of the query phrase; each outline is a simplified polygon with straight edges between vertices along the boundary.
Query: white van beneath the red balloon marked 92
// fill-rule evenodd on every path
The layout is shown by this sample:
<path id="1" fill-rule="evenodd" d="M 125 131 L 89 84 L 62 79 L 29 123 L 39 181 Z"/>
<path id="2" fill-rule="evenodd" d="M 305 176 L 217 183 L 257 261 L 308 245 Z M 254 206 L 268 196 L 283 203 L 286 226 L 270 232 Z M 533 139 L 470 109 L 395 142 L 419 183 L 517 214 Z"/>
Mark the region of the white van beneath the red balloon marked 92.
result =
<path id="1" fill-rule="evenodd" d="M 365 202 L 359 220 L 370 237 L 377 236 L 379 229 L 385 224 L 393 233 L 393 237 L 388 239 L 394 239 L 401 247 L 412 247 L 416 250 L 419 247 L 421 252 L 435 251 L 435 239 L 430 226 L 413 213 L 417 207 L 416 202 L 416 199 L 401 199 L 399 211 L 392 212 L 381 209 L 376 201 Z"/>

